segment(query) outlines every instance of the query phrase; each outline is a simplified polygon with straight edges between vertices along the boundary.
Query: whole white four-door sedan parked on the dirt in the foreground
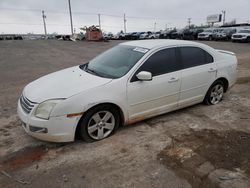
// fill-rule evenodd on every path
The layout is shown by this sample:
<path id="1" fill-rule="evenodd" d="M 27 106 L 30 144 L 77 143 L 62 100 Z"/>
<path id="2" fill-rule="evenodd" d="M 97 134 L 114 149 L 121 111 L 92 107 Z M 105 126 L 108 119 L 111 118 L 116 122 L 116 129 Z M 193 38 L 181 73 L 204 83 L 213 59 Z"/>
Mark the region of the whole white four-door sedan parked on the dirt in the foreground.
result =
<path id="1" fill-rule="evenodd" d="M 119 44 L 88 63 L 28 84 L 18 115 L 31 136 L 90 142 L 119 126 L 204 102 L 217 104 L 236 81 L 228 51 L 179 40 Z"/>

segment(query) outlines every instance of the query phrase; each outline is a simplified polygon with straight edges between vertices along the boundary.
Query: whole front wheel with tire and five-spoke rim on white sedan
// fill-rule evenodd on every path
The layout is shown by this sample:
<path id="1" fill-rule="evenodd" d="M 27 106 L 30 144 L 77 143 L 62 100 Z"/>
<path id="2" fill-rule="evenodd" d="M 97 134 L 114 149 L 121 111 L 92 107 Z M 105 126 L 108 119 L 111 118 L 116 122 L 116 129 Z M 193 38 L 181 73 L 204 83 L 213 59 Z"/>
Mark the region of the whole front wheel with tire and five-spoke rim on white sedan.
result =
<path id="1" fill-rule="evenodd" d="M 119 124 L 120 115 L 113 106 L 99 105 L 82 117 L 80 137 L 86 142 L 99 141 L 114 134 Z"/>

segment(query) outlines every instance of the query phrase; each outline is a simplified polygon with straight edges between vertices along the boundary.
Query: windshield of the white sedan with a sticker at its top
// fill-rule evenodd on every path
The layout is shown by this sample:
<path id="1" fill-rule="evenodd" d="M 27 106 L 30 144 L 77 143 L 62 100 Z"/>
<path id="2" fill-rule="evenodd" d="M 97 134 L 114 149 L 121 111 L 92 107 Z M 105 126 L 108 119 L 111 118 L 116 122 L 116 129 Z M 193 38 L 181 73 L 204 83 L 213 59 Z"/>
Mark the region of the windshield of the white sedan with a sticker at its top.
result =
<path id="1" fill-rule="evenodd" d="M 89 63 L 80 65 L 80 68 L 97 76 L 120 78 L 124 76 L 147 51 L 148 49 L 145 48 L 118 45 L 95 57 Z"/>

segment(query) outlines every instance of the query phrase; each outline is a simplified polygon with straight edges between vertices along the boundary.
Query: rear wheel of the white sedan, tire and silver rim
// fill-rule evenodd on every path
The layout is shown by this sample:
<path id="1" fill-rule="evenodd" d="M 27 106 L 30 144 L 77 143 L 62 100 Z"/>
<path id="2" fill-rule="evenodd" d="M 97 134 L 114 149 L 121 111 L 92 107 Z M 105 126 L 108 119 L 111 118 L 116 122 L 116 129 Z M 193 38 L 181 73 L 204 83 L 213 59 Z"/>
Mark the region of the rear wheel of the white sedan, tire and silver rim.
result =
<path id="1" fill-rule="evenodd" d="M 218 104 L 223 98 L 224 91 L 224 83 L 220 80 L 215 81 L 208 89 L 203 102 L 207 105 Z"/>

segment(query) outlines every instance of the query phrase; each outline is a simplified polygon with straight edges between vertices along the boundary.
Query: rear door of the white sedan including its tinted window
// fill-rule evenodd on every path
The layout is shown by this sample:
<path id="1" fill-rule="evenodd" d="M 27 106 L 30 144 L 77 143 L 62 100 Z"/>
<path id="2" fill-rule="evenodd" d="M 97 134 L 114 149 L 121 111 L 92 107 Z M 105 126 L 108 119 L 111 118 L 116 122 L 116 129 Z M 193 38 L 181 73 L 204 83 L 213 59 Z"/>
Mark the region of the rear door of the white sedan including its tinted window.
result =
<path id="1" fill-rule="evenodd" d="M 182 64 L 182 83 L 179 106 L 201 102 L 216 78 L 217 69 L 213 57 L 199 47 L 178 48 Z"/>

